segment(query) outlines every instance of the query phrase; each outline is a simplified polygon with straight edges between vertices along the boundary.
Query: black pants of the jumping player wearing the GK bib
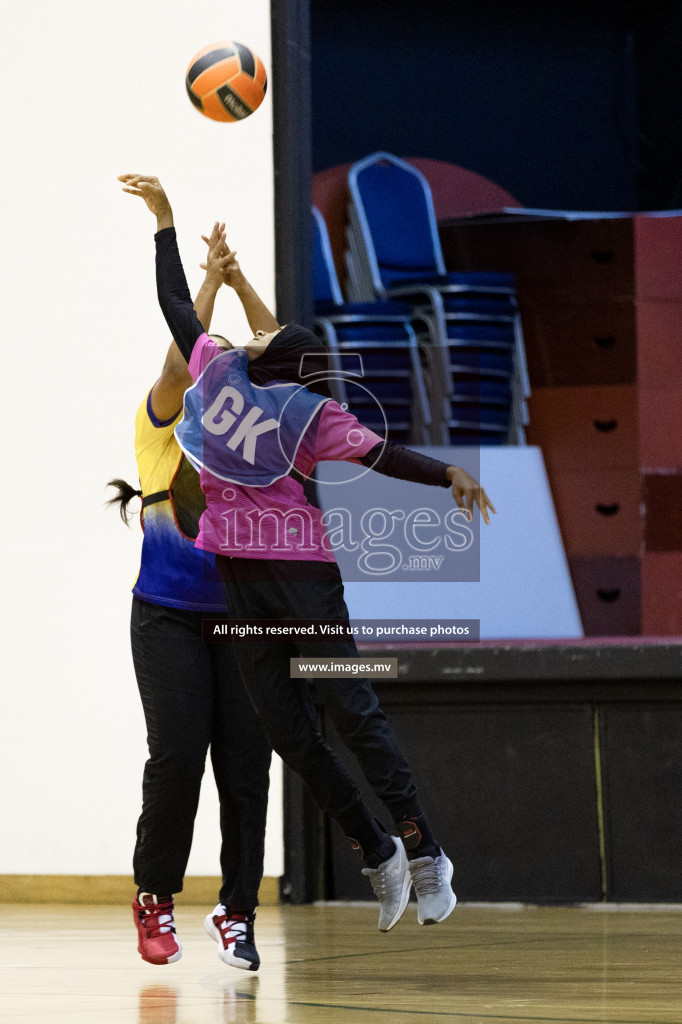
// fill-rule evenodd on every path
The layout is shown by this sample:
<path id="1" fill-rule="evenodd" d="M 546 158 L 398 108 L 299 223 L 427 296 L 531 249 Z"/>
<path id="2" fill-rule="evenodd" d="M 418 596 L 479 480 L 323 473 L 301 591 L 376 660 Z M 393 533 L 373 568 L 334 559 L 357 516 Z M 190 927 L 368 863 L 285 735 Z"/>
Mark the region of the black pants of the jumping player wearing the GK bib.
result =
<path id="1" fill-rule="evenodd" d="M 335 562 L 216 556 L 230 617 L 348 621 L 341 573 Z M 272 746 L 297 772 L 318 806 L 347 836 L 374 831 L 385 839 L 359 791 L 319 732 L 309 687 L 290 676 L 290 657 L 356 657 L 352 640 L 308 643 L 235 643 L 244 683 Z M 420 813 L 412 773 L 368 679 L 314 680 L 325 709 L 365 777 L 394 821 Z M 370 840 L 371 841 L 371 840 Z"/>

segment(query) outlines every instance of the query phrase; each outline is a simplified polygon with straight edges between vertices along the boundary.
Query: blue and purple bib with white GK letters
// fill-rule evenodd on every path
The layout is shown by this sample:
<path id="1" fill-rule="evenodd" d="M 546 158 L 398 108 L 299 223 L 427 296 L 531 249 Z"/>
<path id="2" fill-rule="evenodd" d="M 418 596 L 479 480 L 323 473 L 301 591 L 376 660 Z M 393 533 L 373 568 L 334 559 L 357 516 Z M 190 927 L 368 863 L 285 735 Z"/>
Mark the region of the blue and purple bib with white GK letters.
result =
<path id="1" fill-rule="evenodd" d="M 196 469 L 266 487 L 289 473 L 326 401 L 301 384 L 252 384 L 246 352 L 223 352 L 185 391 L 175 437 Z"/>

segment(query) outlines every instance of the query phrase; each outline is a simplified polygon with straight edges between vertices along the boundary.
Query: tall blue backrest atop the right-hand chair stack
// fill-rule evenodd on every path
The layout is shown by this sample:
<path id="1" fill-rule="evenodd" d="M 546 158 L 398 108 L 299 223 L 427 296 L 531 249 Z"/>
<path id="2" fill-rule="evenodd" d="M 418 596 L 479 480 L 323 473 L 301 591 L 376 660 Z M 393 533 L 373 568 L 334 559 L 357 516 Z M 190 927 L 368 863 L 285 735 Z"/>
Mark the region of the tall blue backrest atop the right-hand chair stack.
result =
<path id="1" fill-rule="evenodd" d="M 383 287 L 445 273 L 431 189 L 420 171 L 391 154 L 375 153 L 353 165 L 348 184 Z"/>

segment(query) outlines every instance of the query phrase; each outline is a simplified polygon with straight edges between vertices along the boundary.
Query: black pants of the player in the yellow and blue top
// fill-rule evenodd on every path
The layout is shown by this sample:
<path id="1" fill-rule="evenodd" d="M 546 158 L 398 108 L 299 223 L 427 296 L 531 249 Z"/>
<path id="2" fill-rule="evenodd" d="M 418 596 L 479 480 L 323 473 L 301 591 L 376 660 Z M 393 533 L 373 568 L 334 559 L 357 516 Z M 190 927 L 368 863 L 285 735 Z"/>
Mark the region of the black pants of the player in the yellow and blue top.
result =
<path id="1" fill-rule="evenodd" d="M 157 895 L 182 890 L 210 748 L 220 799 L 220 902 L 252 909 L 263 873 L 271 750 L 231 645 L 202 640 L 207 614 L 133 598 L 132 654 L 150 748 L 135 883 Z"/>

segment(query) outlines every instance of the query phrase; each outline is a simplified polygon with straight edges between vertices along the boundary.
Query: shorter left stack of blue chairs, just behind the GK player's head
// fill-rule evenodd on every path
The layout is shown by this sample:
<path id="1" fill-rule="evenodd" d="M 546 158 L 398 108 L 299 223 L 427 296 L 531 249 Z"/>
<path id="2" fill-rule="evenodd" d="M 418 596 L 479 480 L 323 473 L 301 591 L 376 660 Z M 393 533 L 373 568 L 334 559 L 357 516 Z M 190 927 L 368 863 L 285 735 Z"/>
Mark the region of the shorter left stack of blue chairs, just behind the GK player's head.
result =
<path id="1" fill-rule="evenodd" d="M 315 329 L 331 353 L 335 397 L 382 437 L 428 444 L 430 413 L 412 305 L 345 302 L 329 232 L 312 208 Z"/>

